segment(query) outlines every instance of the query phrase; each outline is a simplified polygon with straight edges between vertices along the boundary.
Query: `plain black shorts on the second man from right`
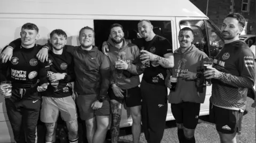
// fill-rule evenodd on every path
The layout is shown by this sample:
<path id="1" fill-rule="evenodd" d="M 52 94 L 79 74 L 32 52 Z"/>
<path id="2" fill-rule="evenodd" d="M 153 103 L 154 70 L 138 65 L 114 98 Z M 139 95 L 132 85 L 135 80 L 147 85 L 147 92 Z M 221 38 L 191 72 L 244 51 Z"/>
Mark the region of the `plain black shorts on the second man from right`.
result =
<path id="1" fill-rule="evenodd" d="M 200 112 L 200 103 L 182 102 L 171 104 L 172 115 L 178 124 L 187 129 L 196 129 Z"/>

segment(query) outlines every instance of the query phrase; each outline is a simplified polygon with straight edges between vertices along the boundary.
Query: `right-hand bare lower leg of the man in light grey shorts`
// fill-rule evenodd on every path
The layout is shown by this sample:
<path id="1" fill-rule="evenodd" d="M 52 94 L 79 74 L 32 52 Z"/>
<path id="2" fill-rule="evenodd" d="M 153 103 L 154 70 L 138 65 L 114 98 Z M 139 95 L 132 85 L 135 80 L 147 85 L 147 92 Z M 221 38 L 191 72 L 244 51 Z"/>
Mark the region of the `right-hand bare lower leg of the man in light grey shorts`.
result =
<path id="1" fill-rule="evenodd" d="M 69 142 L 78 142 L 78 124 L 77 120 L 66 121 L 68 128 L 68 140 Z"/>

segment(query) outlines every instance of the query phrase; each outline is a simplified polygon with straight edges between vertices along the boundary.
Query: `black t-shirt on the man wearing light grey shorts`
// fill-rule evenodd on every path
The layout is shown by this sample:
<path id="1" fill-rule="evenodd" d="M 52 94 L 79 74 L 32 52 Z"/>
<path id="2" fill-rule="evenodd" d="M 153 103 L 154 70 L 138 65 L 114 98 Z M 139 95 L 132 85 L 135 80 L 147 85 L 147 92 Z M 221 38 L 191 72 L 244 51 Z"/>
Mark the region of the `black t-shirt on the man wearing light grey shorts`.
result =
<path id="1" fill-rule="evenodd" d="M 67 74 L 67 78 L 56 82 L 50 82 L 47 90 L 43 92 L 42 96 L 63 98 L 73 94 L 73 88 L 70 82 L 74 81 L 74 59 L 73 56 L 67 52 L 67 47 L 63 48 L 61 55 L 49 52 L 48 62 L 50 64 L 50 70 L 47 73 L 47 77 L 53 73 Z"/>

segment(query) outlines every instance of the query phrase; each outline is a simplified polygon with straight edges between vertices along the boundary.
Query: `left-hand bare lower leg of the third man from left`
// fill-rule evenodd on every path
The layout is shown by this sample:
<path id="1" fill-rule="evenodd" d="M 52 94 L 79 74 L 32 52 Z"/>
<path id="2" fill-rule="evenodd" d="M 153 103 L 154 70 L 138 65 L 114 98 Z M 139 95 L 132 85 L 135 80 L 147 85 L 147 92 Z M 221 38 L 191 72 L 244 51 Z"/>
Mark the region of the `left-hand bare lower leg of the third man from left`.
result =
<path id="1" fill-rule="evenodd" d="M 96 130 L 96 123 L 95 123 L 95 117 L 92 119 L 86 120 L 86 137 L 88 140 L 88 143 L 92 143 L 93 136 Z"/>

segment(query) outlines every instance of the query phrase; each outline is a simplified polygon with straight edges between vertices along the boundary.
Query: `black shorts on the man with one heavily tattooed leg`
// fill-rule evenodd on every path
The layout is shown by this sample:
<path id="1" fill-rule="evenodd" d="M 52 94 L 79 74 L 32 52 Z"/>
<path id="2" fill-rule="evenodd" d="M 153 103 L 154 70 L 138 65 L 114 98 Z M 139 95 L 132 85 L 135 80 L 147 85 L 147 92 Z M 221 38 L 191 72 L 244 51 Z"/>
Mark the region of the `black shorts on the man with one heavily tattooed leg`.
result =
<path id="1" fill-rule="evenodd" d="M 124 98 L 116 97 L 112 88 L 108 90 L 108 96 L 110 100 L 117 100 L 119 103 L 123 104 L 125 102 L 127 107 L 134 107 L 141 105 L 141 91 L 140 87 L 133 87 L 130 89 L 122 89 Z"/>

